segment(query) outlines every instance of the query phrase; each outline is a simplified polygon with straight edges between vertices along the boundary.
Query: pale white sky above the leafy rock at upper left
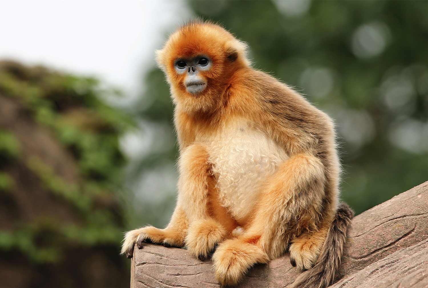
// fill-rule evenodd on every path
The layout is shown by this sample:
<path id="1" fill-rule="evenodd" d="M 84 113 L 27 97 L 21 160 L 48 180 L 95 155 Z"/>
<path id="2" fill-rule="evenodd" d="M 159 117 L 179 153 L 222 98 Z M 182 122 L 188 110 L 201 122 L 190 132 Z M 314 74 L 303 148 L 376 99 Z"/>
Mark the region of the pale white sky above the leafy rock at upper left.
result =
<path id="1" fill-rule="evenodd" d="M 183 1 L 0 0 L 0 59 L 96 76 L 135 94 Z"/>

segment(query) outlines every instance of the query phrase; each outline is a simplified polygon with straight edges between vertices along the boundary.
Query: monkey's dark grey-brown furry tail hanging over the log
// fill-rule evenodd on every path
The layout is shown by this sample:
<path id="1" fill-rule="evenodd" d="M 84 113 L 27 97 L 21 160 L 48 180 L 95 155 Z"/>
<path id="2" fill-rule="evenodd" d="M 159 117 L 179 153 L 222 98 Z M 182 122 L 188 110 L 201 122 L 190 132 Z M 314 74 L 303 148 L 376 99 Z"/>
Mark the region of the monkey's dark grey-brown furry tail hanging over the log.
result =
<path id="1" fill-rule="evenodd" d="M 346 232 L 353 217 L 354 211 L 346 203 L 341 203 L 315 266 L 301 273 L 290 288 L 324 288 L 333 283 L 342 257 Z"/>

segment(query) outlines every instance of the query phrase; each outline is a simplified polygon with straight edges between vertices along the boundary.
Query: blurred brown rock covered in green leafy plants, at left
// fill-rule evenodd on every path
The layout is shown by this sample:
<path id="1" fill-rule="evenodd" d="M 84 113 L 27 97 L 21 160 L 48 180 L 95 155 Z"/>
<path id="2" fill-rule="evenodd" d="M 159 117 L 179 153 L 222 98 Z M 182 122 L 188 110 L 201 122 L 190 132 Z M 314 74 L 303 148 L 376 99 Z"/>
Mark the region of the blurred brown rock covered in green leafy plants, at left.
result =
<path id="1" fill-rule="evenodd" d="M 0 62 L 4 285 L 128 285 L 117 192 L 126 164 L 119 136 L 133 123 L 104 104 L 108 93 L 92 78 Z"/>

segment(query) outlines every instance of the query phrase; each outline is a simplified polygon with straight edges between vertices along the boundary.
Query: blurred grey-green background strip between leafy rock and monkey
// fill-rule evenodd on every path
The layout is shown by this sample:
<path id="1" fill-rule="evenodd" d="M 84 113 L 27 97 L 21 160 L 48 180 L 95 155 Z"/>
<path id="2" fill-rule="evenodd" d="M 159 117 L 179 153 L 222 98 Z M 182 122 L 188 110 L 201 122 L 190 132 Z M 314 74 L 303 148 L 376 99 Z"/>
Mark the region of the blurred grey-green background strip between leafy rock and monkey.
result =
<path id="1" fill-rule="evenodd" d="M 127 184 L 134 191 L 131 196 L 134 217 L 130 221 L 133 229 L 147 224 L 166 226 L 176 198 L 178 149 L 169 87 L 157 68 L 149 71 L 144 84 L 145 91 L 132 108 L 149 145 L 145 154 L 133 159 L 127 170 Z"/>

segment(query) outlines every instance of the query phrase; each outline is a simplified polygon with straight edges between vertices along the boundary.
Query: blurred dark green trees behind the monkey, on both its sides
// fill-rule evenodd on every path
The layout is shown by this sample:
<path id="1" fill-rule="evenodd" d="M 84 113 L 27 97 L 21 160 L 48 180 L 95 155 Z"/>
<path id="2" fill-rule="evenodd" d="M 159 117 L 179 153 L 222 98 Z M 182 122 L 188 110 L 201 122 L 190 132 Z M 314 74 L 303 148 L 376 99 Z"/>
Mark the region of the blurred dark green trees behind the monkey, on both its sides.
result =
<path id="1" fill-rule="evenodd" d="M 335 119 L 342 198 L 357 214 L 428 180 L 427 1 L 189 3 L 197 17 L 220 23 L 247 42 L 255 68 L 294 86 Z M 157 169 L 162 172 L 156 181 L 162 182 L 177 155 L 173 141 L 161 136 L 172 131 L 172 104 L 157 68 L 146 86 L 136 114 L 168 131 L 158 135 L 167 140 L 153 140 L 153 153 L 134 172 L 149 175 Z M 158 143 L 169 146 L 159 149 Z M 144 183 L 142 191 L 155 187 Z M 160 188 L 143 194 L 159 194 Z M 175 193 L 173 185 L 164 191 Z M 174 198 L 163 199 L 152 205 L 147 197 L 139 204 L 151 213 L 141 214 L 139 225 L 167 223 Z"/>

